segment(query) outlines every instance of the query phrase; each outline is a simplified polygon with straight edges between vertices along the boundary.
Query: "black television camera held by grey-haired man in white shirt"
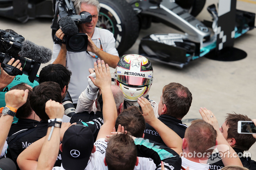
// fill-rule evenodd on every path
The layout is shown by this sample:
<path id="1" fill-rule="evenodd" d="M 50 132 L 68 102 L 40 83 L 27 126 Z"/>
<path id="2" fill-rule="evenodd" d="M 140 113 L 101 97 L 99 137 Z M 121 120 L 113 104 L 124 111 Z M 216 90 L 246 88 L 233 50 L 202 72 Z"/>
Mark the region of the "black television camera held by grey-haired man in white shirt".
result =
<path id="1" fill-rule="evenodd" d="M 66 43 L 66 48 L 71 52 L 81 52 L 87 50 L 88 36 L 85 33 L 78 33 L 78 24 L 92 21 L 92 15 L 83 11 L 76 15 L 72 1 L 53 0 L 54 18 L 52 20 L 52 39 L 55 43 Z M 56 37 L 55 33 L 61 28 L 65 34 L 63 41 Z"/>

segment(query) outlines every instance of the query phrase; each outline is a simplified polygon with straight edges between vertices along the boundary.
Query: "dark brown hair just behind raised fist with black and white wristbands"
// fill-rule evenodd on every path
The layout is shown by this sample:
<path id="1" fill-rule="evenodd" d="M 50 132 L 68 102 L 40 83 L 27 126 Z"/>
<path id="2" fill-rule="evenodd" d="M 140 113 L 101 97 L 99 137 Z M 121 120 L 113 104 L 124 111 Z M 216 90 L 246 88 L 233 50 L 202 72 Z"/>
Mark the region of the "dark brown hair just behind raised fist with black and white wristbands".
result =
<path id="1" fill-rule="evenodd" d="M 52 99 L 61 103 L 61 89 L 58 83 L 48 81 L 43 82 L 33 88 L 30 95 L 31 108 L 36 112 L 36 115 L 44 121 L 49 119 L 45 113 L 45 103 Z"/>

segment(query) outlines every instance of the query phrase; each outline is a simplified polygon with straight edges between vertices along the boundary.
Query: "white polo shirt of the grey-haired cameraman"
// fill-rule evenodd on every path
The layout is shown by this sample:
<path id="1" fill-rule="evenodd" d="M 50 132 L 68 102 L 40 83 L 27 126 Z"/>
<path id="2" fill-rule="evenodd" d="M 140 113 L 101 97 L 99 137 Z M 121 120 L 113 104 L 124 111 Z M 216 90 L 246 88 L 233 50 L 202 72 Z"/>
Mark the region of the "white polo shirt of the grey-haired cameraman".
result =
<path id="1" fill-rule="evenodd" d="M 118 52 L 115 47 L 115 38 L 113 33 L 106 29 L 94 28 L 94 33 L 92 35 L 92 41 L 94 44 L 100 48 L 100 42 L 103 48 L 103 51 L 108 54 L 118 55 Z M 51 63 L 53 63 L 60 52 L 60 45 L 53 45 L 53 55 Z M 95 55 L 92 52 L 89 52 L 91 55 Z M 67 51 L 66 56 L 66 67 L 68 70 L 72 71 L 72 76 L 68 84 L 68 92 L 73 100 L 73 103 L 77 103 L 78 97 L 84 89 L 87 88 L 88 81 L 87 76 L 89 73 L 89 68 L 94 68 L 93 63 L 96 62 L 98 58 L 94 58 L 91 55 L 88 55 L 86 51 L 83 52 L 69 52 Z"/>

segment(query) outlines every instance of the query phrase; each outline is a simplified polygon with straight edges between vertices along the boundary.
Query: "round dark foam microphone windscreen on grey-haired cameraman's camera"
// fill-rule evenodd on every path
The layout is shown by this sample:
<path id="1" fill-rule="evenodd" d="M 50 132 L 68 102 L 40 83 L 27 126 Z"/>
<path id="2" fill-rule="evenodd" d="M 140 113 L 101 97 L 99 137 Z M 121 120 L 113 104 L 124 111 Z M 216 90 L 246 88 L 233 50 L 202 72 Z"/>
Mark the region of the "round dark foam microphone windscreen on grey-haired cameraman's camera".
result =
<path id="1" fill-rule="evenodd" d="M 69 16 L 61 18 L 59 26 L 65 35 L 75 35 L 78 31 L 76 23 Z"/>

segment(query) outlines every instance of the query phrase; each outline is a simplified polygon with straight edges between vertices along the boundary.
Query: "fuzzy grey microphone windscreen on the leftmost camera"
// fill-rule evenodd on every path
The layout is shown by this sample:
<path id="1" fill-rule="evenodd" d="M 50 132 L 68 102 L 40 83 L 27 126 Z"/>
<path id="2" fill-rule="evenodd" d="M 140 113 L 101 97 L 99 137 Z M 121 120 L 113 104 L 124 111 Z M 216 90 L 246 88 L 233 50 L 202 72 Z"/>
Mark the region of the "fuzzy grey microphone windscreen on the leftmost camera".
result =
<path id="1" fill-rule="evenodd" d="M 21 57 L 27 57 L 39 63 L 48 63 L 52 59 L 52 50 L 44 46 L 36 45 L 34 42 L 25 40 L 22 42 L 19 52 Z"/>

